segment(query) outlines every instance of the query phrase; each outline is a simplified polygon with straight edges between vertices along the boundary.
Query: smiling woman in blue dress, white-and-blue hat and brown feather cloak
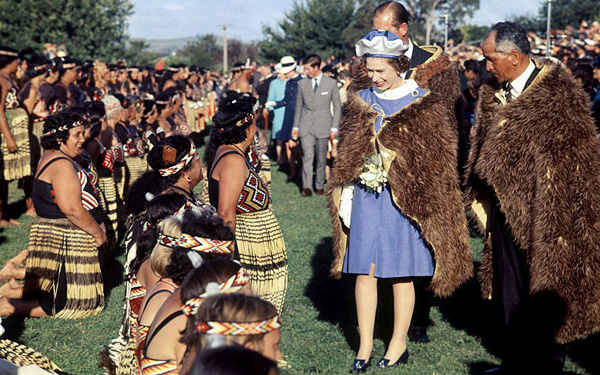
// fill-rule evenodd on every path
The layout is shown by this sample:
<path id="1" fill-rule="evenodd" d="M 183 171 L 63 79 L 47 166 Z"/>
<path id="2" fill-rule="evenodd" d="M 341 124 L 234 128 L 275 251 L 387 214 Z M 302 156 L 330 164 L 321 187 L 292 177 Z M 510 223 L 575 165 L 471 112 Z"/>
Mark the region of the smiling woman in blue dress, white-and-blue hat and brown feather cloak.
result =
<path id="1" fill-rule="evenodd" d="M 373 356 L 378 279 L 388 280 L 394 294 L 393 334 L 377 362 L 387 368 L 408 361 L 413 279 L 435 269 L 431 287 L 448 295 L 472 271 L 454 113 L 443 104 L 448 93 L 403 79 L 407 50 L 388 31 L 372 31 L 356 44 L 373 86 L 349 94 L 328 184 L 332 274 L 357 275 L 360 347 L 353 373 L 365 372 Z"/>

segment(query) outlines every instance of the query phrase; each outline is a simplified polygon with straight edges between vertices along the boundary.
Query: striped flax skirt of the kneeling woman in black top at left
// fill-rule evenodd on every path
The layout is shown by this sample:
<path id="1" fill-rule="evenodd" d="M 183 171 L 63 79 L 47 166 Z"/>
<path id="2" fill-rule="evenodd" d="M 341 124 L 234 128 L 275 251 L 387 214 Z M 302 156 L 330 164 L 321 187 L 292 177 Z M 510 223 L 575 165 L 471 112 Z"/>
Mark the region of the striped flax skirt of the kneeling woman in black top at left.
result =
<path id="1" fill-rule="evenodd" d="M 24 296 L 65 294 L 66 304 L 54 316 L 79 319 L 98 315 L 104 308 L 104 285 L 93 237 L 68 219 L 36 218 L 29 236 Z M 64 273 L 66 283 L 59 282 Z M 56 309 L 56 306 L 53 307 Z"/>

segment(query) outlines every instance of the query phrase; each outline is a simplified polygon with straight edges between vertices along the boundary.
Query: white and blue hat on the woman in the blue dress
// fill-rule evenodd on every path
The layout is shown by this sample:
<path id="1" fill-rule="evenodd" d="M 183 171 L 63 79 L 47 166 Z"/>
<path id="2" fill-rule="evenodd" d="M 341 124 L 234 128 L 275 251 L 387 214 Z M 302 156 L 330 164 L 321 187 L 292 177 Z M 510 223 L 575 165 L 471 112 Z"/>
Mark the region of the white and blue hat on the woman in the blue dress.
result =
<path id="1" fill-rule="evenodd" d="M 397 58 L 408 50 L 396 34 L 387 30 L 373 30 L 356 43 L 358 57 L 386 57 Z"/>

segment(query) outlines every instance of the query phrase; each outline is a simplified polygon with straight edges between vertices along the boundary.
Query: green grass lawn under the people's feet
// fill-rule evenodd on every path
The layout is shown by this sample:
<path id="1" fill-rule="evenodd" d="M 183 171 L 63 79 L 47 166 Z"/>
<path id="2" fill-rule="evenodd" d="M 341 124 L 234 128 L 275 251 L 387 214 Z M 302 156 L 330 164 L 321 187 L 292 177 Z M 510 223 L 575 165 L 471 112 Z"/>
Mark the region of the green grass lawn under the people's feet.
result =
<path id="1" fill-rule="evenodd" d="M 331 230 L 325 197 L 302 198 L 298 186 L 286 183 L 286 175 L 273 170 L 273 205 L 281 224 L 289 257 L 289 286 L 283 313 L 281 348 L 289 367 L 282 374 L 347 374 L 357 349 L 358 336 L 353 305 L 353 280 L 329 278 Z M 23 209 L 22 193 L 10 184 L 13 212 Z M 27 247 L 30 218 L 19 217 L 24 225 L 0 229 L 0 262 L 3 264 Z M 473 239 L 475 259 L 481 241 Z M 119 258 L 121 259 L 121 258 Z M 116 266 L 115 273 L 122 272 Z M 389 292 L 382 285 L 381 322 L 375 356 L 384 353 L 390 320 L 385 308 Z M 58 319 L 7 318 L 4 338 L 24 343 L 52 359 L 69 374 L 102 374 L 98 352 L 117 335 L 122 318 L 124 288 L 114 287 L 105 311 L 97 317 L 78 321 Z M 479 299 L 475 281 L 447 300 L 436 300 L 429 334 L 431 343 L 409 343 L 409 363 L 388 370 L 388 374 L 479 374 L 499 363 L 489 306 Z M 388 324 L 386 324 L 388 322 Z M 383 340 L 381 338 L 384 338 Z M 598 337 L 571 347 L 566 371 L 592 374 L 598 371 Z M 372 372 L 381 372 L 374 370 Z"/>

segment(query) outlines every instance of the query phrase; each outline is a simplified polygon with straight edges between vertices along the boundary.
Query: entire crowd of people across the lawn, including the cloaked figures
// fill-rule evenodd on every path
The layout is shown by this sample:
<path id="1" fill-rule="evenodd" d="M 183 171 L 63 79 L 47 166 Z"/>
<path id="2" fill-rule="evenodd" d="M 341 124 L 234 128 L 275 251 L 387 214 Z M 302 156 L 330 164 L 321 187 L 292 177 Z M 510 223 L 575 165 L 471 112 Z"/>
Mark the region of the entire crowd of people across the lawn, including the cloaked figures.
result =
<path id="1" fill-rule="evenodd" d="M 473 275 L 469 221 L 504 318 L 501 371 L 559 373 L 563 344 L 600 330 L 600 26 L 557 32 L 551 58 L 511 22 L 477 47 L 419 47 L 394 1 L 373 28 L 347 61 L 282 56 L 228 76 L 0 46 L 0 225 L 21 225 L 10 181 L 35 216 L 0 270 L 0 316 L 100 314 L 124 249 L 109 373 L 278 373 L 273 160 L 303 199 L 327 195 L 332 276 L 356 275 L 352 373 L 371 365 L 380 279 L 394 325 L 377 367 L 406 363 L 407 338 L 429 342 L 433 295 Z"/>

